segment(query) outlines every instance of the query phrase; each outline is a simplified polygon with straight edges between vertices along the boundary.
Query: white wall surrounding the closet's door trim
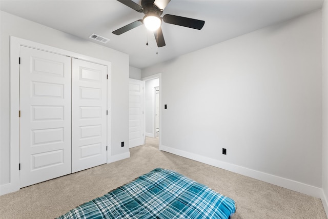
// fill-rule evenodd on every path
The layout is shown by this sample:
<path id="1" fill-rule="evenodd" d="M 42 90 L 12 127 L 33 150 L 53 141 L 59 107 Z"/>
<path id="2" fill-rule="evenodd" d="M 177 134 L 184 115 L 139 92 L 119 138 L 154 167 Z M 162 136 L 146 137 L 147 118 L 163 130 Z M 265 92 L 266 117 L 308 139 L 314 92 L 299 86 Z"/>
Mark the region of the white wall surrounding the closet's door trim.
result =
<path id="1" fill-rule="evenodd" d="M 0 185 L 10 181 L 10 35 L 109 61 L 112 64 L 111 154 L 129 153 L 129 56 L 1 11 L 1 174 Z M 121 142 L 126 146 L 121 148 Z M 18 165 L 18 164 L 17 164 Z"/>

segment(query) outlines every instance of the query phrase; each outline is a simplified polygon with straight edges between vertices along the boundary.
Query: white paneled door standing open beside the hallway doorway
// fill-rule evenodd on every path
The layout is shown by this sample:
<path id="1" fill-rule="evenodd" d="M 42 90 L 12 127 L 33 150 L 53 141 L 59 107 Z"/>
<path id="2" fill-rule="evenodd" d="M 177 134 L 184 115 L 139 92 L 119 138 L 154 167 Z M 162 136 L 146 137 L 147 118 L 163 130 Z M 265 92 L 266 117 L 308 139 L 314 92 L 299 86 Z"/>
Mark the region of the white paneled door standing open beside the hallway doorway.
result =
<path id="1" fill-rule="evenodd" d="M 144 82 L 130 79 L 129 83 L 129 145 L 144 144 Z"/>

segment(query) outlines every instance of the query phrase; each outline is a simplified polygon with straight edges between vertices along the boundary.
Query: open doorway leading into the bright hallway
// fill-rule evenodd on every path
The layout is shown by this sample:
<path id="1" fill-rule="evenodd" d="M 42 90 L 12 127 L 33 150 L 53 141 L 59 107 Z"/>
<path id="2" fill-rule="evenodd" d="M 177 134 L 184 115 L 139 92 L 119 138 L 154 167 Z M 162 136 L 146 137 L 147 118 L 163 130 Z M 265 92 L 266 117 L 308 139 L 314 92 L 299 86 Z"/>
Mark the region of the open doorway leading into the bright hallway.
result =
<path id="1" fill-rule="evenodd" d="M 145 89 L 144 89 L 145 144 L 147 144 L 148 141 L 158 142 L 158 148 L 160 149 L 160 136 L 161 136 L 160 74 L 156 74 L 142 79 L 143 81 L 145 81 Z"/>

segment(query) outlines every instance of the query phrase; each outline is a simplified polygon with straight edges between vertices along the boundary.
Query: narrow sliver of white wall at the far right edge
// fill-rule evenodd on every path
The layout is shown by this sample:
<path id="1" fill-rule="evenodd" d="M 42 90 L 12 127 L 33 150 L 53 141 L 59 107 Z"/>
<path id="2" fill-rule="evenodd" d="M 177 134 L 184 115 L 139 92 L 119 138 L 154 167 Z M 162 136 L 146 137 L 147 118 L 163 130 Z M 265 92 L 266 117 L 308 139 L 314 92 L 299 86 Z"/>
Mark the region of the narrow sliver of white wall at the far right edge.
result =
<path id="1" fill-rule="evenodd" d="M 322 204 L 328 215 L 328 1 L 322 6 Z"/>

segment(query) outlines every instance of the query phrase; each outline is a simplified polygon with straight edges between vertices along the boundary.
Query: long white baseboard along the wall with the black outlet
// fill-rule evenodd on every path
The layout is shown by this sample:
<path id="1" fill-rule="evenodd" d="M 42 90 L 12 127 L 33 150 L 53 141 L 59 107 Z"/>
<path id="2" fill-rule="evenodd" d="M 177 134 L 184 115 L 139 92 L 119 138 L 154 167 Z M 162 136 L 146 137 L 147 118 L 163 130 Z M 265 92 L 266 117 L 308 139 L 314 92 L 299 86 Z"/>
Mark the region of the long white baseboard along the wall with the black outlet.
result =
<path id="1" fill-rule="evenodd" d="M 214 167 L 218 167 L 221 169 L 229 170 L 231 172 L 239 173 L 241 175 L 249 176 L 249 177 L 255 178 L 256 180 L 267 182 L 267 183 L 270 183 L 270 184 L 273 184 L 276 186 L 280 186 L 280 187 L 283 187 L 286 189 L 290 189 L 293 191 L 301 192 L 301 193 L 304 193 L 307 195 L 311 195 L 313 197 L 321 198 L 321 193 L 323 193 L 321 188 L 307 185 L 304 183 L 300 183 L 297 181 L 289 180 L 288 178 L 283 178 L 280 176 L 271 175 L 268 173 L 241 167 L 241 166 L 230 164 L 227 162 L 222 162 L 222 161 L 210 158 L 210 157 L 201 156 L 198 154 L 190 153 L 187 151 L 182 151 L 182 150 L 167 147 L 164 145 L 161 145 L 160 149 L 162 151 L 167 151 L 169 153 L 183 156 L 183 157 L 189 158 L 194 161 L 198 161 L 198 162 L 208 164 L 208 165 L 211 165 Z"/>

